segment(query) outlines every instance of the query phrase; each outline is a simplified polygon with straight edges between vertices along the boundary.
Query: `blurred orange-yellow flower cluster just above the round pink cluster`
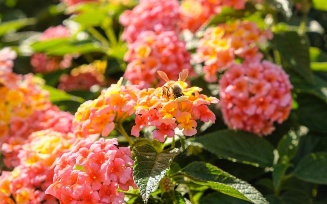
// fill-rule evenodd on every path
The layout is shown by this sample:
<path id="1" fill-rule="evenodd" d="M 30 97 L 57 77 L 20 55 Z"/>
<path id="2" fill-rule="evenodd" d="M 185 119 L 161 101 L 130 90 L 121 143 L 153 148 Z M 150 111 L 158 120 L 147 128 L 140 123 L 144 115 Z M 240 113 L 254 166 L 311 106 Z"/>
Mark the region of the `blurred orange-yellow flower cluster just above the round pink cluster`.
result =
<path id="1" fill-rule="evenodd" d="M 194 59 L 197 63 L 204 62 L 205 80 L 216 82 L 216 73 L 229 68 L 236 56 L 260 61 L 263 55 L 256 44 L 267 39 L 272 39 L 271 31 L 263 32 L 254 22 L 237 20 L 232 24 L 219 24 L 205 32 Z"/>

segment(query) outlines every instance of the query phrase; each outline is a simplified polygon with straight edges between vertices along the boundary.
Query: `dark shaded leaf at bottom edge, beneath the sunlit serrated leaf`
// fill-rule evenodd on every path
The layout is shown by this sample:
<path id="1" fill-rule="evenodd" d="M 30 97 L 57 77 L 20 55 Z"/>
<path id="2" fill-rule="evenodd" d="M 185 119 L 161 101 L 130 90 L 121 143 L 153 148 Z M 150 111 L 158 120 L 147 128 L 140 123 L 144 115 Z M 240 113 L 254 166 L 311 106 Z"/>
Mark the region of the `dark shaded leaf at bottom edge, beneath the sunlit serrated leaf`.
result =
<path id="1" fill-rule="evenodd" d="M 216 192 L 200 199 L 199 204 L 250 204 L 250 202 Z"/>

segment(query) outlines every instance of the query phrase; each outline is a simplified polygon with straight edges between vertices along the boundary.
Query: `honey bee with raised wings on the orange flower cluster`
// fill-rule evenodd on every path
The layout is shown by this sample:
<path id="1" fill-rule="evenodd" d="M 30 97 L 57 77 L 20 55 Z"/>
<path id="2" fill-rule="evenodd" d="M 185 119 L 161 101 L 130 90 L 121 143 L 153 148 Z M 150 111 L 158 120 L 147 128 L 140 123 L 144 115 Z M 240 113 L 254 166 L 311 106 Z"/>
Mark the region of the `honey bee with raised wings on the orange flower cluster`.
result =
<path id="1" fill-rule="evenodd" d="M 170 95 L 172 94 L 174 96 L 175 101 L 177 102 L 185 101 L 188 98 L 188 96 L 184 96 L 182 92 L 183 89 L 180 84 L 176 83 L 175 81 L 170 81 L 168 79 L 167 74 L 163 71 L 157 71 L 157 73 L 166 82 L 162 87 L 163 95 L 166 95 L 169 99 Z M 179 74 L 178 81 L 185 82 L 187 76 L 188 76 L 188 70 L 183 69 Z"/>

